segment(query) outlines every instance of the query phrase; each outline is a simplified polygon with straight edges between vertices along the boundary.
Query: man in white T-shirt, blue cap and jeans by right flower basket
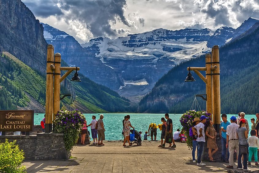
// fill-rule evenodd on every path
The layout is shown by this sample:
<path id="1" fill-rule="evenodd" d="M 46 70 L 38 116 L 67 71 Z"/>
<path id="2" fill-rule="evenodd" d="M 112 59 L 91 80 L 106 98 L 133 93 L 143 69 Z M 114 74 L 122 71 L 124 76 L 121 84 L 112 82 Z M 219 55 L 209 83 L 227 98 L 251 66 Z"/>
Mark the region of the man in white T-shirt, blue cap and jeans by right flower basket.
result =
<path id="1" fill-rule="evenodd" d="M 200 123 L 192 128 L 192 130 L 195 130 L 195 129 L 197 130 L 197 135 L 198 135 L 198 138 L 196 140 L 197 141 L 197 145 L 198 145 L 198 150 L 197 150 L 197 154 L 198 154 L 197 166 L 204 166 L 204 165 L 206 165 L 205 163 L 202 163 L 202 161 L 201 161 L 201 154 L 202 154 L 203 147 L 204 147 L 204 144 L 205 144 L 204 123 L 206 123 L 206 119 L 207 118 L 208 117 L 202 115 L 200 117 Z"/>

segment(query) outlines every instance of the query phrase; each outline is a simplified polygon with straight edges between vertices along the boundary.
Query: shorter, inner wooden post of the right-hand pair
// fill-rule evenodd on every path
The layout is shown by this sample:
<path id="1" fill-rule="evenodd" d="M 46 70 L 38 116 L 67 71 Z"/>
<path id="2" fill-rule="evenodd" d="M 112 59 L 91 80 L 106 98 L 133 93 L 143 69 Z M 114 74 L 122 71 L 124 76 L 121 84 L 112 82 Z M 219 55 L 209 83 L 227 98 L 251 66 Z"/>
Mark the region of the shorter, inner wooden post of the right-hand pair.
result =
<path id="1" fill-rule="evenodd" d="M 211 114 L 212 119 L 212 75 L 211 75 L 211 54 L 207 53 L 206 58 L 206 94 L 207 94 L 207 101 L 206 101 L 206 111 Z"/>

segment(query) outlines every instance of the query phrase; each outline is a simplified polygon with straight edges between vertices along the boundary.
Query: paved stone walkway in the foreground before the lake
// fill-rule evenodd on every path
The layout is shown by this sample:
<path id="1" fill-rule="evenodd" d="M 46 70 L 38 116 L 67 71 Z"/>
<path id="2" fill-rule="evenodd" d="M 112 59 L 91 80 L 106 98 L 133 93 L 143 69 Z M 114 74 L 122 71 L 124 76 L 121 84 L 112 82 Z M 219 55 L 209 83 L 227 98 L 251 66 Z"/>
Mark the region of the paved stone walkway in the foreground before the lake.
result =
<path id="1" fill-rule="evenodd" d="M 27 172 L 226 172 L 228 163 L 204 162 L 198 167 L 192 163 L 192 154 L 186 144 L 176 148 L 158 148 L 158 141 L 145 141 L 142 146 L 123 147 L 122 142 L 105 142 L 105 146 L 78 145 L 69 161 L 26 161 Z M 167 144 L 168 145 L 168 144 Z M 237 164 L 237 163 L 236 163 Z M 254 165 L 254 163 L 252 163 Z M 259 167 L 249 165 L 252 171 Z M 237 170 L 235 168 L 233 171 Z"/>

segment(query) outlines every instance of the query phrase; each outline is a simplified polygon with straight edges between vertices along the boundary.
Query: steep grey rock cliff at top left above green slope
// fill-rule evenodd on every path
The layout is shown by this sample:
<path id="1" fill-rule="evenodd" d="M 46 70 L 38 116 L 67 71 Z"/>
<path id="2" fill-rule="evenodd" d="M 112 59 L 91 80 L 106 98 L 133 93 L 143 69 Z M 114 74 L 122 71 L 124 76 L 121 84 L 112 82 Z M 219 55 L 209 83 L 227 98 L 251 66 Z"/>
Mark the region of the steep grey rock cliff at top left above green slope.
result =
<path id="1" fill-rule="evenodd" d="M 19 0 L 0 0 L 0 46 L 40 73 L 45 73 L 47 42 L 43 26 Z"/>

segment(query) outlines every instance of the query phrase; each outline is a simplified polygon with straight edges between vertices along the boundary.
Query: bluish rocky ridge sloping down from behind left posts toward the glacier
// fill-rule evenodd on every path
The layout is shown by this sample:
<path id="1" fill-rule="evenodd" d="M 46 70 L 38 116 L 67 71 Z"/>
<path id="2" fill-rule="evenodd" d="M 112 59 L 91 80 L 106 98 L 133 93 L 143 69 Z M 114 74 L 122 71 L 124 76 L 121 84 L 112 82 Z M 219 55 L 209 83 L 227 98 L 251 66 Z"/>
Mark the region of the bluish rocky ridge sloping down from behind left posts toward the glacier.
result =
<path id="1" fill-rule="evenodd" d="M 41 24 L 44 27 L 44 38 L 48 44 L 54 46 L 55 52 L 61 53 L 61 58 L 68 65 L 79 66 L 80 73 L 99 84 L 110 88 L 122 85 L 123 81 L 120 80 L 119 74 L 95 58 L 93 53 L 83 49 L 74 37 L 48 24 Z"/>

